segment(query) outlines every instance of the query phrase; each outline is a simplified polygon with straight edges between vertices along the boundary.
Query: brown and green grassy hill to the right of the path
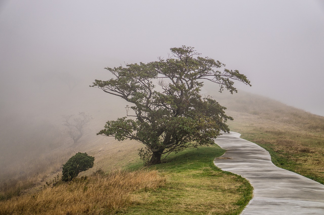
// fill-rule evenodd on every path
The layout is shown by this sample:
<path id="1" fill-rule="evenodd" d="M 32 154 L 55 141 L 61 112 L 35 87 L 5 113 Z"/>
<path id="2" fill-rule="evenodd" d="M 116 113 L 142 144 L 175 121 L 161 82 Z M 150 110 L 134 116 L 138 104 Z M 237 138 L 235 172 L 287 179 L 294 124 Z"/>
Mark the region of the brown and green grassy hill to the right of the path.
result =
<path id="1" fill-rule="evenodd" d="M 215 97 L 235 119 L 231 130 L 268 150 L 275 165 L 324 183 L 324 117 L 244 92 Z"/>

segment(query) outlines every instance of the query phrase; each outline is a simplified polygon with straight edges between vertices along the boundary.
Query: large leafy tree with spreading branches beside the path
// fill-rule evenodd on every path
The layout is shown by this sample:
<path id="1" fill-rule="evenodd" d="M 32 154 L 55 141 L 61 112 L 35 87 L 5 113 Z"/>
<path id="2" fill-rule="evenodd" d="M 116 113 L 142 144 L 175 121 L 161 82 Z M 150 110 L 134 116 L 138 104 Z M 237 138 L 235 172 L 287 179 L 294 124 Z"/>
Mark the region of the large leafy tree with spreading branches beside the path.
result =
<path id="1" fill-rule="evenodd" d="M 225 64 L 201 57 L 193 47 L 170 50 L 172 56 L 165 60 L 107 67 L 115 78 L 95 80 L 90 86 L 132 103 L 126 107 L 127 117 L 132 118 L 108 121 L 97 135 L 143 143 L 150 165 L 161 163 L 161 156 L 170 152 L 212 145 L 221 131 L 229 132 L 226 122 L 233 118 L 212 97 L 200 95 L 203 81 L 218 84 L 220 93 L 224 88 L 237 93 L 233 80 L 251 86 L 237 70 L 216 70 Z M 134 114 L 128 115 L 130 110 Z"/>

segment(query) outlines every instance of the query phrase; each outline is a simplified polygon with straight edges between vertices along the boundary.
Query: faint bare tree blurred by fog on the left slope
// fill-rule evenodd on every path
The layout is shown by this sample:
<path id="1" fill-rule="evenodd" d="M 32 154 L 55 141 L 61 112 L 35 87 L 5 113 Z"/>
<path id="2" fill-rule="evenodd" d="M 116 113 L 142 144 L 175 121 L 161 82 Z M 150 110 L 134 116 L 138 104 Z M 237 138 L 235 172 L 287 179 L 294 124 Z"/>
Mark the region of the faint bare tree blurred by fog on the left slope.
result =
<path id="1" fill-rule="evenodd" d="M 79 112 L 79 117 L 73 118 L 74 114 L 72 115 L 63 115 L 64 118 L 64 126 L 67 127 L 66 132 L 70 135 L 73 139 L 74 143 L 83 136 L 84 128 L 87 127 L 88 122 L 92 119 L 91 116 L 87 115 L 85 112 Z"/>

